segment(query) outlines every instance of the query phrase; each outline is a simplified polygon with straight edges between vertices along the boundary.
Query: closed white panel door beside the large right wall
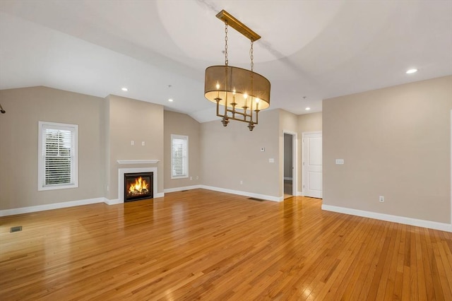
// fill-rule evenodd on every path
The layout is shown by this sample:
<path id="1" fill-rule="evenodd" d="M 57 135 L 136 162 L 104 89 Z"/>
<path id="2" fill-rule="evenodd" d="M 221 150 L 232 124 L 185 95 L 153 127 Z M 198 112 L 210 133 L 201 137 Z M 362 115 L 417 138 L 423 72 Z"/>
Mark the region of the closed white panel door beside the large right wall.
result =
<path id="1" fill-rule="evenodd" d="M 322 133 L 303 133 L 304 196 L 322 198 Z"/>

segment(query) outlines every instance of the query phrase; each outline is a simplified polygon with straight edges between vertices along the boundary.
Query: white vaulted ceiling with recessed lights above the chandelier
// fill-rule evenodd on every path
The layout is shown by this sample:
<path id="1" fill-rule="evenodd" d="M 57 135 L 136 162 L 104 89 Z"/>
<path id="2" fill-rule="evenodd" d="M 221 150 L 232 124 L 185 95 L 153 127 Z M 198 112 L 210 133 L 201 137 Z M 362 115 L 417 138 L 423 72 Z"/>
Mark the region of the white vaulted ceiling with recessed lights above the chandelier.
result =
<path id="1" fill-rule="evenodd" d="M 254 71 L 270 80 L 270 108 L 320 112 L 325 98 L 452 74 L 452 0 L 0 0 L 0 88 L 122 95 L 218 119 L 203 81 L 225 61 L 222 9 L 262 36 Z M 228 58 L 249 69 L 249 40 L 232 28 Z"/>

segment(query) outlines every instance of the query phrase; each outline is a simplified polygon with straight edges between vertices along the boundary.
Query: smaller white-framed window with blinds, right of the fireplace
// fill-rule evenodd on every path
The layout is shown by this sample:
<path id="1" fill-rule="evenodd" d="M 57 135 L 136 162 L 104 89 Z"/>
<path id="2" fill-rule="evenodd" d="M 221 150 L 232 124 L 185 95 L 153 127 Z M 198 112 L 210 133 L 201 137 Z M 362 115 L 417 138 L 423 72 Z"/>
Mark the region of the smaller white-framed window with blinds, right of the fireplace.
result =
<path id="1" fill-rule="evenodd" d="M 171 135 L 171 178 L 189 177 L 189 136 Z"/>

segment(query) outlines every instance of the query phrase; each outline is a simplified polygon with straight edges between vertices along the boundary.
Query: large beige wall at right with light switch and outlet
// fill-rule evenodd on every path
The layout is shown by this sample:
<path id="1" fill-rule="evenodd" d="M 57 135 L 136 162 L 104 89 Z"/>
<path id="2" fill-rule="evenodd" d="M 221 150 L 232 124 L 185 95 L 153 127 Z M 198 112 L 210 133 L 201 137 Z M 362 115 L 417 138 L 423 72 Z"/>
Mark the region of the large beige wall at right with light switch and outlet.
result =
<path id="1" fill-rule="evenodd" d="M 324 100 L 323 203 L 451 223 L 451 108 L 452 76 Z"/>

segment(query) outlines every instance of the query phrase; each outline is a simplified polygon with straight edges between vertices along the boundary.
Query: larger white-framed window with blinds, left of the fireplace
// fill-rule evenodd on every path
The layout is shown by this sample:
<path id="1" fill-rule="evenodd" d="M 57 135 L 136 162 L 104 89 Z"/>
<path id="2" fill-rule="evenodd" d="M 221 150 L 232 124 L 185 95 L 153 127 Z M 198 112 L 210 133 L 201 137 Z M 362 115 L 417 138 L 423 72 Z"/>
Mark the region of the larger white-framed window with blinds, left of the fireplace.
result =
<path id="1" fill-rule="evenodd" d="M 78 187 L 78 125 L 39 122 L 38 190 Z"/>

